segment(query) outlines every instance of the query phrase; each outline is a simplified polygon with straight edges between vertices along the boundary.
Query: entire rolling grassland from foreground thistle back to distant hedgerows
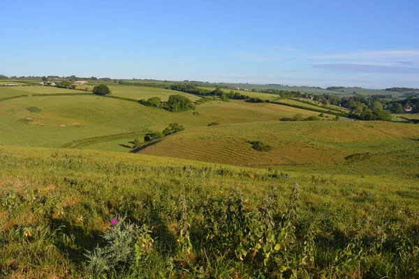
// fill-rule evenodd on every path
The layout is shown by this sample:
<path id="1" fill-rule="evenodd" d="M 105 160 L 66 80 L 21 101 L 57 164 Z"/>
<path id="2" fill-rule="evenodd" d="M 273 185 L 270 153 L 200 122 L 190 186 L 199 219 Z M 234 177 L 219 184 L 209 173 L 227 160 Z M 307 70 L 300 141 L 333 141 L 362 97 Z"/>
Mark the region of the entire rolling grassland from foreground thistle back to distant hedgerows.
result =
<path id="1" fill-rule="evenodd" d="M 0 87 L 1 278 L 419 278 L 419 125 L 110 87 Z"/>

